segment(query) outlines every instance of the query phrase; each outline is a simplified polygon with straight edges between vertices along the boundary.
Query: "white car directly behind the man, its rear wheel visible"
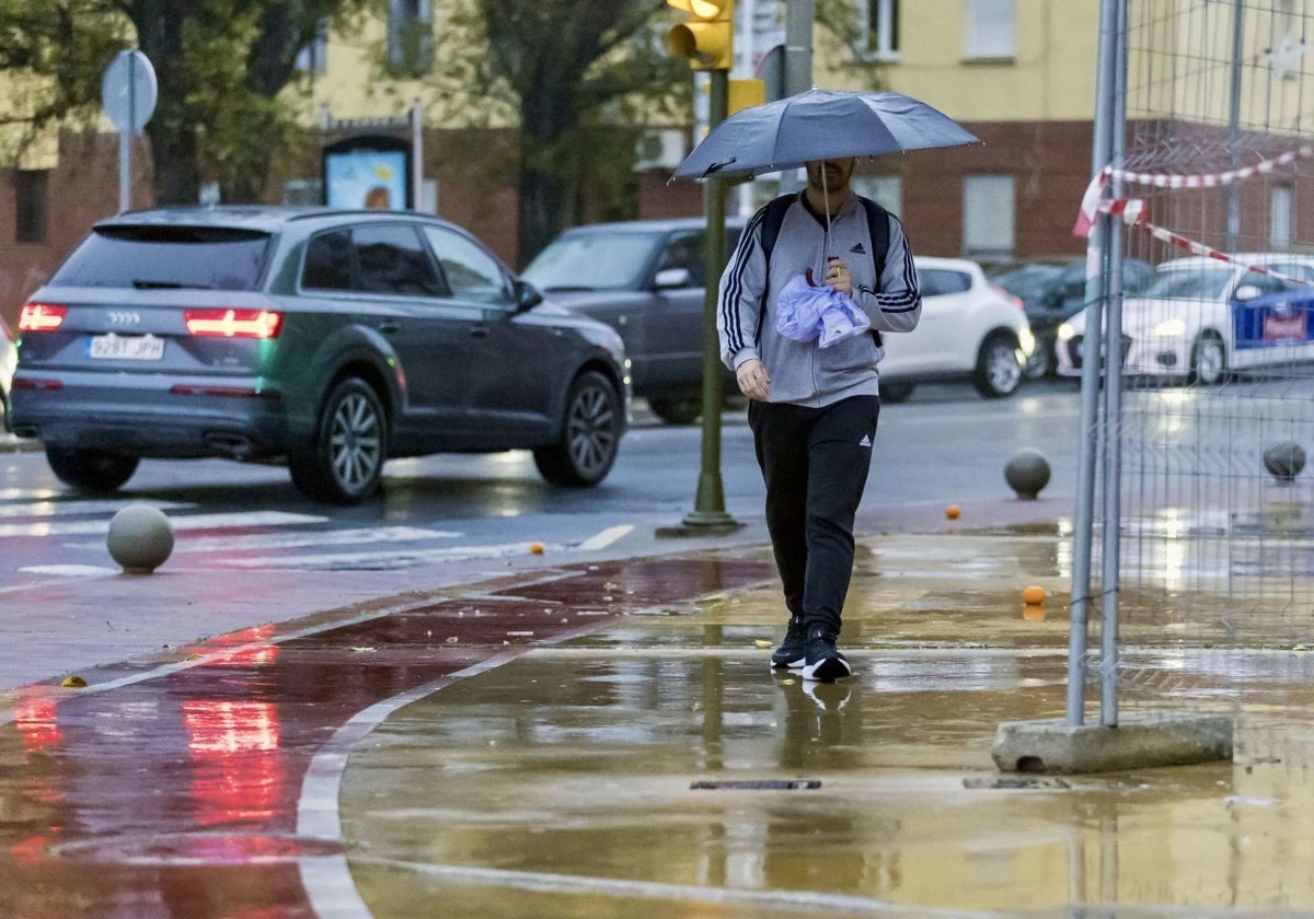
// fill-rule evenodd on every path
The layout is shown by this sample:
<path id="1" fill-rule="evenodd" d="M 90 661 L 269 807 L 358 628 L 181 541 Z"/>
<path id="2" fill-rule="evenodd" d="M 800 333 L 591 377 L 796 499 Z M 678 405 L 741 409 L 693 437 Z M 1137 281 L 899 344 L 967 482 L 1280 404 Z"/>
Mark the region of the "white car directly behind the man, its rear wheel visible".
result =
<path id="1" fill-rule="evenodd" d="M 988 399 L 1017 391 L 1035 347 L 1022 301 L 968 259 L 913 256 L 921 322 L 884 332 L 880 399 L 904 402 L 918 382 L 967 379 Z"/>

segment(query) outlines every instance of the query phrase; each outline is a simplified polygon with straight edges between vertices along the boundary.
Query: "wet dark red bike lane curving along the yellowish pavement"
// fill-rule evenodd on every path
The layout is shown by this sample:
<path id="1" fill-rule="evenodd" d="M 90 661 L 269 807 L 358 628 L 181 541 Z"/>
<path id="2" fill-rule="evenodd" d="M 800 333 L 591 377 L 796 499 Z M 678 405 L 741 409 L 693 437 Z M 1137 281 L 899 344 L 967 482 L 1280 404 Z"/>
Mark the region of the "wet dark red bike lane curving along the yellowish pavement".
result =
<path id="1" fill-rule="evenodd" d="M 301 869 L 344 843 L 298 836 L 298 807 L 311 759 L 357 713 L 771 576 L 750 553 L 552 568 L 339 624 L 230 633 L 176 664 L 102 668 L 83 689 L 25 687 L 0 727 L 0 915 L 317 915 Z"/>

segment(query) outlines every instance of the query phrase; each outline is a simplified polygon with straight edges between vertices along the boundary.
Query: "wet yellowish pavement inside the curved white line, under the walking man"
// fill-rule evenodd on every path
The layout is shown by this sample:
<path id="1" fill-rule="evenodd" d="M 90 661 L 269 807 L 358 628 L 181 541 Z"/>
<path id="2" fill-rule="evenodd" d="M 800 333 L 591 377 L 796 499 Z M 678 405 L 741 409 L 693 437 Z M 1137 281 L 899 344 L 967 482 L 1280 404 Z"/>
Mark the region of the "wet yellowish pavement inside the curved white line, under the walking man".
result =
<path id="1" fill-rule="evenodd" d="M 378 916 L 1314 908 L 1314 658 L 1160 635 L 1123 662 L 1156 675 L 1129 679 L 1127 706 L 1234 713 L 1235 764 L 995 780 L 1001 721 L 1063 714 L 1066 605 L 1020 601 L 1056 567 L 1028 540 L 869 546 L 846 685 L 767 672 L 765 589 L 409 705 L 351 758 L 352 877 Z"/>

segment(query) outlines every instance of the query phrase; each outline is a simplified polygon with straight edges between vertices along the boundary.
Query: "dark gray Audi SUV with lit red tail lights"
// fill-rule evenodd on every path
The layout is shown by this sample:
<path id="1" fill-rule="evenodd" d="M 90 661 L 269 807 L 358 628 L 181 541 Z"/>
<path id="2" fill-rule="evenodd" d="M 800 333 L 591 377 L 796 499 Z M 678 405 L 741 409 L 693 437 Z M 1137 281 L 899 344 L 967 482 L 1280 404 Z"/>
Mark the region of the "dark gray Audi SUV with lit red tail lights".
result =
<path id="1" fill-rule="evenodd" d="M 32 295 L 18 335 L 7 427 L 93 491 L 142 457 L 218 456 L 285 462 L 306 495 L 355 504 L 390 457 L 509 449 L 591 486 L 625 428 L 611 328 L 402 211 L 122 214 Z"/>

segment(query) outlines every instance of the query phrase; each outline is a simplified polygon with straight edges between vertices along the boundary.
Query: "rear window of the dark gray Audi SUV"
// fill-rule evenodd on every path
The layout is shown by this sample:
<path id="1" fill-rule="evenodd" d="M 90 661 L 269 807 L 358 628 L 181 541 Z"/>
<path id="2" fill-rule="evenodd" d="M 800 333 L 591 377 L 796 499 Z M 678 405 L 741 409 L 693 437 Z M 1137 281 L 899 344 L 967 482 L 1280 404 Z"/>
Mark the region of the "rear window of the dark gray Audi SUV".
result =
<path id="1" fill-rule="evenodd" d="M 97 227 L 50 284 L 255 290 L 268 243 L 269 234 L 229 227 Z"/>

